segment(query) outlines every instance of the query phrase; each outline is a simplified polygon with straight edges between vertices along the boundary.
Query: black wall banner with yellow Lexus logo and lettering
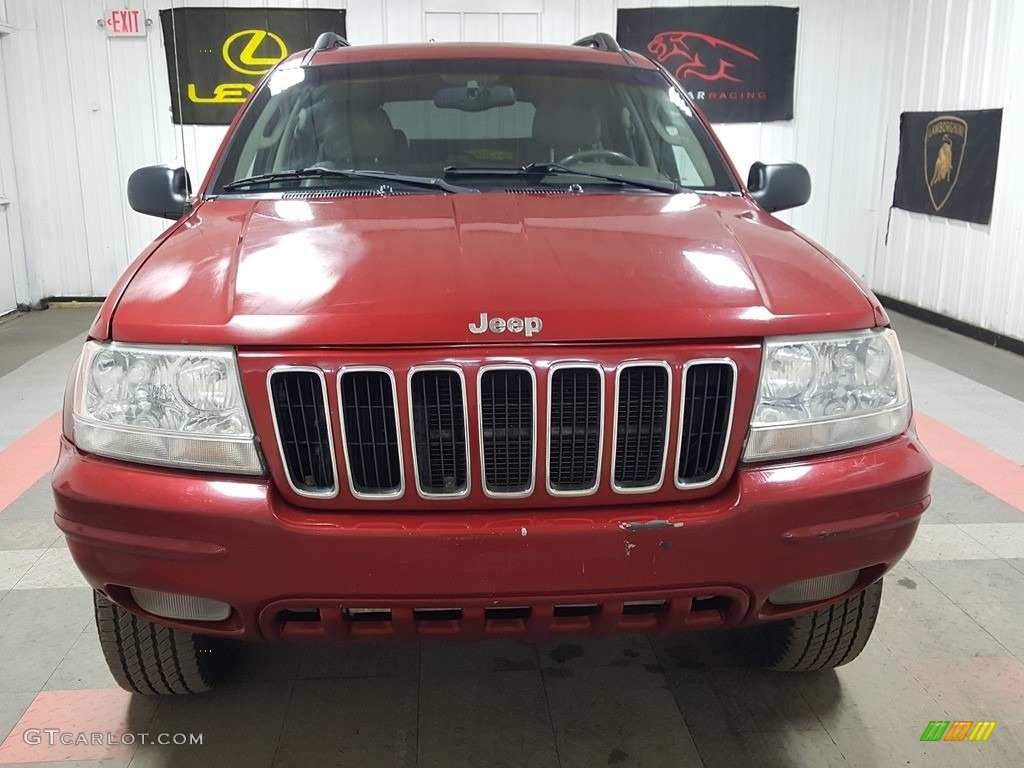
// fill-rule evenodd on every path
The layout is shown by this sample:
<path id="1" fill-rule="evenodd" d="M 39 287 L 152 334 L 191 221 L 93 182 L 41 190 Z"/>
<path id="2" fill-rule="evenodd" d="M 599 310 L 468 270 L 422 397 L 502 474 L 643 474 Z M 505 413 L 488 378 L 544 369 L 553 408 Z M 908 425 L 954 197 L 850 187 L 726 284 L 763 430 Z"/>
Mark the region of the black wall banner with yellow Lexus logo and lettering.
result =
<path id="1" fill-rule="evenodd" d="M 160 24 L 179 125 L 227 125 L 281 59 L 322 32 L 345 36 L 345 11 L 327 8 L 172 8 Z"/>

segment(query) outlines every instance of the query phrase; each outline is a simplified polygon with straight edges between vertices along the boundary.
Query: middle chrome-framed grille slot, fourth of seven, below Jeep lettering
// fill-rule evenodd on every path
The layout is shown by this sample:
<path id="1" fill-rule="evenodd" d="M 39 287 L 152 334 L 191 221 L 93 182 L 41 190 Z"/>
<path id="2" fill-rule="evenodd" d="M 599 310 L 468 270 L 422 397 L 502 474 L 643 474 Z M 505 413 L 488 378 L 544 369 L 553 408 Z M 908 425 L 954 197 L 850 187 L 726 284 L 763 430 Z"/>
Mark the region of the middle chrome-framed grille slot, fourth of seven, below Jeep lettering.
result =
<path id="1" fill-rule="evenodd" d="M 534 490 L 535 388 L 530 369 L 480 372 L 480 451 L 488 495 L 526 496 Z"/>

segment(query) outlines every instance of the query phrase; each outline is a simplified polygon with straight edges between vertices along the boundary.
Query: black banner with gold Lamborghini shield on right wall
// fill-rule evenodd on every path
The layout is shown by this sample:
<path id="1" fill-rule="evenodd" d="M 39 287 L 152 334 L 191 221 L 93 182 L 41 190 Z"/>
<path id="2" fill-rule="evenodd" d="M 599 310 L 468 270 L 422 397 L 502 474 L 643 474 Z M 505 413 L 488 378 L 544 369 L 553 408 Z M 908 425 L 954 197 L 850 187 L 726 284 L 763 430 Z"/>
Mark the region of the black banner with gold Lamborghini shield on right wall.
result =
<path id="1" fill-rule="evenodd" d="M 893 205 L 987 224 L 1001 129 L 1002 110 L 904 112 Z"/>

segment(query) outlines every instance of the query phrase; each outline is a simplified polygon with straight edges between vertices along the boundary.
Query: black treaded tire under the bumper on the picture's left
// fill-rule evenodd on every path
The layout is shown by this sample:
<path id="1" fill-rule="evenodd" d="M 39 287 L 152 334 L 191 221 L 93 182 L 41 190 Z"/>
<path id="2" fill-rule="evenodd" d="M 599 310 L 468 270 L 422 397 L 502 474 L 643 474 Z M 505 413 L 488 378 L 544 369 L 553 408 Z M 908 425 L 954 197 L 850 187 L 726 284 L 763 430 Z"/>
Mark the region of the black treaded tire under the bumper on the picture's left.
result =
<path id="1" fill-rule="evenodd" d="M 93 592 L 96 630 L 118 685 L 133 693 L 173 695 L 211 690 L 233 666 L 234 640 L 155 624 Z"/>

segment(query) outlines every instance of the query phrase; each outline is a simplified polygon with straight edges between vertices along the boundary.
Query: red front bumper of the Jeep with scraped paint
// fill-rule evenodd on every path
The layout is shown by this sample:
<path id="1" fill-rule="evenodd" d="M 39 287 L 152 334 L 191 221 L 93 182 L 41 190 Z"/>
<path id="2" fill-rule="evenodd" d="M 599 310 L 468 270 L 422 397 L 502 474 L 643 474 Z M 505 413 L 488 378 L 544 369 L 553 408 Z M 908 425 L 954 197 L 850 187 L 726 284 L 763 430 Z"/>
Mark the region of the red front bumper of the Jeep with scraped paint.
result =
<path id="1" fill-rule="evenodd" d="M 326 513 L 291 506 L 266 478 L 125 464 L 65 438 L 53 488 L 88 582 L 161 624 L 245 639 L 536 637 L 743 626 L 835 602 L 906 552 L 930 474 L 904 434 L 740 467 L 724 492 L 678 504 Z M 855 584 L 828 600 L 768 601 L 852 570 Z M 131 588 L 222 601 L 230 615 L 153 616 Z"/>

